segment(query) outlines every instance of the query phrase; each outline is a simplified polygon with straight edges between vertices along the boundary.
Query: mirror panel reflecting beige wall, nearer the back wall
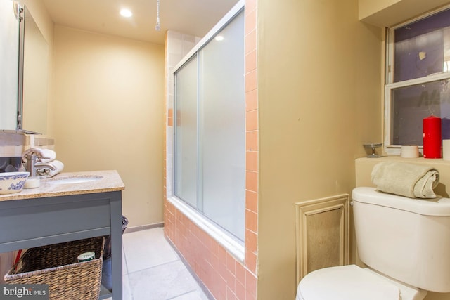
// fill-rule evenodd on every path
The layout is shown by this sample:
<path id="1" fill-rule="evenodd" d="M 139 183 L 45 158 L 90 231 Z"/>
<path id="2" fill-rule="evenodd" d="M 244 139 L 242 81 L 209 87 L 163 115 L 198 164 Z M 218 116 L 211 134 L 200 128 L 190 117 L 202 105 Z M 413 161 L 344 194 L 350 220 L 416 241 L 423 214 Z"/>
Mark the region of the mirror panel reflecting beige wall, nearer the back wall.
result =
<path id="1" fill-rule="evenodd" d="M 20 44 L 18 129 L 46 133 L 49 45 L 24 7 L 23 44 Z M 22 72 L 20 72 L 22 70 Z M 22 81 L 22 84 L 20 84 Z M 22 97 L 20 97 L 22 93 Z M 22 98 L 22 105 L 20 105 Z"/>

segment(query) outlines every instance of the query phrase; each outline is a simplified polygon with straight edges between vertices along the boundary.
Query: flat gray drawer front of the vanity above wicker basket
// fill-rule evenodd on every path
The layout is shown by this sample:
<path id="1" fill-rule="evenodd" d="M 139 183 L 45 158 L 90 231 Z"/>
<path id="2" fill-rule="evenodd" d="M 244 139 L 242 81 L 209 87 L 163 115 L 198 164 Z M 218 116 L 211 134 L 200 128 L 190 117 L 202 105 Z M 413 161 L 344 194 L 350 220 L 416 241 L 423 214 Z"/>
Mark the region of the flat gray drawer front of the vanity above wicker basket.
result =
<path id="1" fill-rule="evenodd" d="M 33 240 L 36 247 L 36 242 L 41 245 L 51 243 L 52 237 L 62 242 L 76 240 L 77 235 L 110 235 L 113 199 L 109 194 L 0 202 L 0 244 L 21 240 L 24 242 L 23 248 L 27 248 L 28 240 Z"/>

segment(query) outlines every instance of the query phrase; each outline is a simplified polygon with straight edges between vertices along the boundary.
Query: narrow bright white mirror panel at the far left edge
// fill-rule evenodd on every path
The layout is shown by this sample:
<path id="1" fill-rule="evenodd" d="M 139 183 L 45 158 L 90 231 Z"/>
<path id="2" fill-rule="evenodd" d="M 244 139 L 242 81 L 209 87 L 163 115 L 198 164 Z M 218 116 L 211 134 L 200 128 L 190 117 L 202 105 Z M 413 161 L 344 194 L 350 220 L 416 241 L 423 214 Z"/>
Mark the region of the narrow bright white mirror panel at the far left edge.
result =
<path id="1" fill-rule="evenodd" d="M 18 115 L 19 7 L 0 1 L 0 129 L 15 130 Z"/>

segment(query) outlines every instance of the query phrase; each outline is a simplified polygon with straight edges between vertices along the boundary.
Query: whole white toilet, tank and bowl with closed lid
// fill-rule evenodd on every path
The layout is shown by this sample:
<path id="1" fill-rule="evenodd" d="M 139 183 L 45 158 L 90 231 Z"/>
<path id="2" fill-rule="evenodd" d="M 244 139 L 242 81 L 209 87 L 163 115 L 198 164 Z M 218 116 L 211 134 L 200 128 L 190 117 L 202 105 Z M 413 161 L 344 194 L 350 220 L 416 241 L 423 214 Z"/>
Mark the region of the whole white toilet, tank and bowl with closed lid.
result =
<path id="1" fill-rule="evenodd" d="M 450 199 L 352 191 L 356 265 L 304 276 L 295 300 L 422 300 L 450 292 Z"/>

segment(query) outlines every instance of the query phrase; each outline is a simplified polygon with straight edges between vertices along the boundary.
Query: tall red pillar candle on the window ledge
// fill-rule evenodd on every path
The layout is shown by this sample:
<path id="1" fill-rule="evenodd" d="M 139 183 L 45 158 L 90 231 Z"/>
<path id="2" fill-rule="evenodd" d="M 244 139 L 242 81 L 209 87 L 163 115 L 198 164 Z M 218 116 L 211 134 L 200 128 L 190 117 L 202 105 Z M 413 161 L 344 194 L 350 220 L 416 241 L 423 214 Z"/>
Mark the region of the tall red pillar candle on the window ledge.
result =
<path id="1" fill-rule="evenodd" d="M 441 158 L 441 118 L 423 119 L 423 157 Z"/>

